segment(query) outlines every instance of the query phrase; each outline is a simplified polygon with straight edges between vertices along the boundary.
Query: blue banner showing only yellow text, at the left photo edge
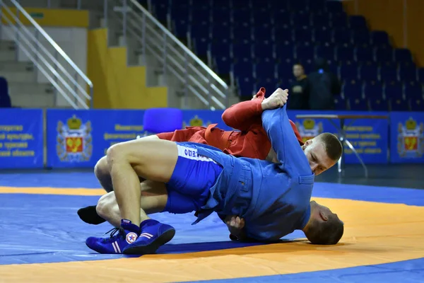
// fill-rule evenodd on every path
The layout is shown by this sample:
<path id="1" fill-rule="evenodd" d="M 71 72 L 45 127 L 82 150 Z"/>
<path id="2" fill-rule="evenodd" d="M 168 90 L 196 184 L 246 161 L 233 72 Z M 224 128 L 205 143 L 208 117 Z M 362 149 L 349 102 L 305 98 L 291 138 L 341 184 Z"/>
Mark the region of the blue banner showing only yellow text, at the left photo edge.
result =
<path id="1" fill-rule="evenodd" d="M 42 168 L 42 110 L 2 108 L 0 121 L 0 168 Z"/>

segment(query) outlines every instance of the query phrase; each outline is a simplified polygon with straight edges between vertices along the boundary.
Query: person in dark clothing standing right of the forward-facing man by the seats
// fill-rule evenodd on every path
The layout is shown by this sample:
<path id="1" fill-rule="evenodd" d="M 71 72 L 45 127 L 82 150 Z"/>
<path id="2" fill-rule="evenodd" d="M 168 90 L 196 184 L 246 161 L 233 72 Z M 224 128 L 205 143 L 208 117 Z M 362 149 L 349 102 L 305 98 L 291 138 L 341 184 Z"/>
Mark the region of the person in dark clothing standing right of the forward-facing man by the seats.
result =
<path id="1" fill-rule="evenodd" d="M 316 71 L 308 76 L 310 82 L 310 109 L 333 110 L 334 96 L 338 96 L 341 92 L 340 82 L 337 76 L 329 71 L 326 59 L 316 59 L 315 69 Z"/>

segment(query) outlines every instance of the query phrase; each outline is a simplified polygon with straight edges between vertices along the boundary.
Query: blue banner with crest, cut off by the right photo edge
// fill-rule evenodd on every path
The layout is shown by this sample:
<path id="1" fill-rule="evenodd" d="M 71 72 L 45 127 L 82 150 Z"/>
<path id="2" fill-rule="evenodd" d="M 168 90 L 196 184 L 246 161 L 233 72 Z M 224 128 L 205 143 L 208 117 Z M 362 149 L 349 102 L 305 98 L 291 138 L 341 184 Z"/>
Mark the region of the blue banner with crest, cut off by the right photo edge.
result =
<path id="1" fill-rule="evenodd" d="M 424 163 L 424 113 L 391 112 L 391 163 Z"/>

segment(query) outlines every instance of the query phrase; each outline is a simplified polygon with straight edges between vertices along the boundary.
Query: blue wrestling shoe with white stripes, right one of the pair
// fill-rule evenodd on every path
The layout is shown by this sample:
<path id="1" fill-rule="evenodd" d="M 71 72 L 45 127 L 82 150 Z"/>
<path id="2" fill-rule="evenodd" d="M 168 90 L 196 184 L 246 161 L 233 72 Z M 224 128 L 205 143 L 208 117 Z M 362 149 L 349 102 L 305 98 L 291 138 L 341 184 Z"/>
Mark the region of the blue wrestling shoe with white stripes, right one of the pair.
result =
<path id="1" fill-rule="evenodd" d="M 122 253 L 126 255 L 150 255 L 160 246 L 174 238 L 174 227 L 147 219 L 140 224 L 140 236 L 134 243 L 126 246 Z"/>

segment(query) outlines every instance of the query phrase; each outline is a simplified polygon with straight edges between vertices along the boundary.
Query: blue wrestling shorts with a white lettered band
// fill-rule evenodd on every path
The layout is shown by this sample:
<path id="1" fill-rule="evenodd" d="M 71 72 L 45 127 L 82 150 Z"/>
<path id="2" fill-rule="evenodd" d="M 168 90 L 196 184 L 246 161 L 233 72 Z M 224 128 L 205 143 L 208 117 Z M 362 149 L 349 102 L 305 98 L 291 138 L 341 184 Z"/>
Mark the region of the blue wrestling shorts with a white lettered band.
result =
<path id="1" fill-rule="evenodd" d="M 209 189 L 223 171 L 220 164 L 199 156 L 195 146 L 177 142 L 178 159 L 168 183 L 165 212 L 184 214 L 195 212 L 206 204 Z"/>

